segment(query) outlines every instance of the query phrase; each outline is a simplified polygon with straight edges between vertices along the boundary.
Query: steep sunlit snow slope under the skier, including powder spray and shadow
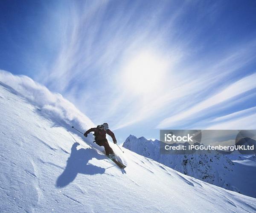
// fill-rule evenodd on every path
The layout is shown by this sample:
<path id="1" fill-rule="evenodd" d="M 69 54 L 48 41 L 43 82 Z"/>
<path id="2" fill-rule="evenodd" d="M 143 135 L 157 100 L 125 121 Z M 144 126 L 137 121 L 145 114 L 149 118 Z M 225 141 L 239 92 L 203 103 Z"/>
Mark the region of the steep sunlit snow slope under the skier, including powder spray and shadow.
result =
<path id="1" fill-rule="evenodd" d="M 125 148 L 122 171 L 70 124 L 93 126 L 61 95 L 0 72 L 0 212 L 256 211 L 254 198 Z"/>

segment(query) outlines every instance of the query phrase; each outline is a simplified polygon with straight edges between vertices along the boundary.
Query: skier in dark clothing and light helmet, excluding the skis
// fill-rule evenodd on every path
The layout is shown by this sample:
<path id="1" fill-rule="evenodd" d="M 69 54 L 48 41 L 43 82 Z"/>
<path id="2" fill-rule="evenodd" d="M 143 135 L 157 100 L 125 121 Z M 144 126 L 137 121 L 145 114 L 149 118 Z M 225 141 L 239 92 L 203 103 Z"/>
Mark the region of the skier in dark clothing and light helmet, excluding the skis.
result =
<path id="1" fill-rule="evenodd" d="M 84 137 L 87 137 L 87 135 L 90 132 L 94 132 L 93 135 L 95 136 L 96 144 L 98 144 L 99 146 L 104 146 L 106 155 L 108 155 L 109 157 L 113 157 L 115 154 L 108 144 L 106 134 L 111 136 L 114 144 L 116 144 L 116 137 L 114 133 L 108 129 L 108 124 L 104 123 L 102 125 L 98 125 L 97 127 L 90 128 L 90 130 L 87 130 L 86 132 L 84 132 Z"/>

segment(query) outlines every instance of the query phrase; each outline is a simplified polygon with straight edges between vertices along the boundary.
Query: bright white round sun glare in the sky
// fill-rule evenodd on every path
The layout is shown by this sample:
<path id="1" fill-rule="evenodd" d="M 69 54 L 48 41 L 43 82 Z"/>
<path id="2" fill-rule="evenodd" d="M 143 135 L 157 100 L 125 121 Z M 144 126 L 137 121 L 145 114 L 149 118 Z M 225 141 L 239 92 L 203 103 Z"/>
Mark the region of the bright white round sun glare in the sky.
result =
<path id="1" fill-rule="evenodd" d="M 151 52 L 141 52 L 125 66 L 123 81 L 134 93 L 148 93 L 157 90 L 163 83 L 166 61 Z"/>

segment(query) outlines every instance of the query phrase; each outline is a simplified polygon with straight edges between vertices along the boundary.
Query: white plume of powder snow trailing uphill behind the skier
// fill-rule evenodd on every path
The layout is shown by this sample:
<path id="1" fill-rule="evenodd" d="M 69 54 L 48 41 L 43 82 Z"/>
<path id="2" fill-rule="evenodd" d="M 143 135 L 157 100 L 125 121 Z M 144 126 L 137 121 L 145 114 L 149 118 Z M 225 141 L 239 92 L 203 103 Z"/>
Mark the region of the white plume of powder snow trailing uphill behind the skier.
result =
<path id="1" fill-rule="evenodd" d="M 0 70 L 0 84 L 15 95 L 25 98 L 38 107 L 41 114 L 62 125 L 76 125 L 87 130 L 95 126 L 93 122 L 59 93 L 50 92 L 47 87 L 25 75 L 12 75 Z"/>

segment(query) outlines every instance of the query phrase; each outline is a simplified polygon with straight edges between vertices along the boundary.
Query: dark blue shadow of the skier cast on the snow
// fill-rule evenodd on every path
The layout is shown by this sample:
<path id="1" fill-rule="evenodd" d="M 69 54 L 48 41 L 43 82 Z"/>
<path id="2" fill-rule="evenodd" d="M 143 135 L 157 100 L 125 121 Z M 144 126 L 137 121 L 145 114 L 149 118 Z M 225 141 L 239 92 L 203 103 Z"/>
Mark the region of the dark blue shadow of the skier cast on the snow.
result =
<path id="1" fill-rule="evenodd" d="M 79 143 L 74 143 L 71 148 L 70 157 L 67 159 L 67 166 L 63 173 L 58 177 L 56 181 L 56 187 L 65 187 L 75 180 L 78 173 L 95 175 L 105 173 L 105 169 L 102 167 L 97 167 L 92 164 L 88 164 L 88 161 L 92 158 L 97 158 L 99 160 L 105 159 L 104 155 L 100 155 L 96 150 L 87 148 L 79 149 L 76 147 Z"/>

